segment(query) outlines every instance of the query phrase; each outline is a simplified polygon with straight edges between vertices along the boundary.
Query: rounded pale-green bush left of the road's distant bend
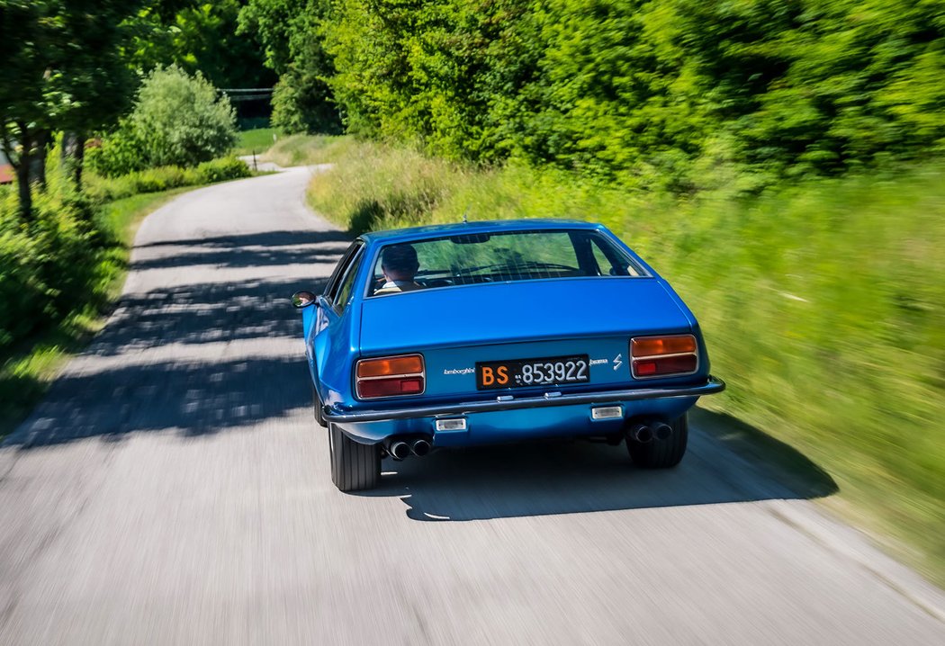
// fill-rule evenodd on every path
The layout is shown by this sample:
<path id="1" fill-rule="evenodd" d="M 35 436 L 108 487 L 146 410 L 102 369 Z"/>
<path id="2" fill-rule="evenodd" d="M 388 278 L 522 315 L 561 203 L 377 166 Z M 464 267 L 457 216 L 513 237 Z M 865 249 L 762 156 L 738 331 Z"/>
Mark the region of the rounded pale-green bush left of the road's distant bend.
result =
<path id="1" fill-rule="evenodd" d="M 236 118 L 226 96 L 199 74 L 158 68 L 138 90 L 134 110 L 93 149 L 88 163 L 115 177 L 157 166 L 196 166 L 236 144 Z"/>

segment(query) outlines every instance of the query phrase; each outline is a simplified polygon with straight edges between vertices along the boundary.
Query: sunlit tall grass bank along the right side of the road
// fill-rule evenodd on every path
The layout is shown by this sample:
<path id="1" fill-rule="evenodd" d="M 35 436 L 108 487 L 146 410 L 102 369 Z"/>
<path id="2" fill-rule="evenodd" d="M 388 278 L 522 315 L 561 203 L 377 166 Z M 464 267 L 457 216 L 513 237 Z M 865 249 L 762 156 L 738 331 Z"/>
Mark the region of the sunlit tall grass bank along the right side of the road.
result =
<path id="1" fill-rule="evenodd" d="M 352 232 L 464 213 L 608 225 L 698 316 L 730 386 L 704 405 L 801 451 L 839 487 L 826 504 L 945 584 L 945 161 L 678 199 L 346 138 L 283 144 L 336 162 L 309 200 Z"/>

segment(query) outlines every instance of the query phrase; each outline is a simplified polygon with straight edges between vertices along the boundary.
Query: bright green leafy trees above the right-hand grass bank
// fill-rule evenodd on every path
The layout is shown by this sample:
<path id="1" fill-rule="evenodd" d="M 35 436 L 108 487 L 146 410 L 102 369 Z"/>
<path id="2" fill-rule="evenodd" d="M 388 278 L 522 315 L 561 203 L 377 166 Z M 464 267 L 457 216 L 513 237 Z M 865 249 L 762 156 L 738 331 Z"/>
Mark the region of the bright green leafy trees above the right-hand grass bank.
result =
<path id="1" fill-rule="evenodd" d="M 319 29 L 350 131 L 455 160 L 690 193 L 945 144 L 938 2 L 338 0 Z"/>

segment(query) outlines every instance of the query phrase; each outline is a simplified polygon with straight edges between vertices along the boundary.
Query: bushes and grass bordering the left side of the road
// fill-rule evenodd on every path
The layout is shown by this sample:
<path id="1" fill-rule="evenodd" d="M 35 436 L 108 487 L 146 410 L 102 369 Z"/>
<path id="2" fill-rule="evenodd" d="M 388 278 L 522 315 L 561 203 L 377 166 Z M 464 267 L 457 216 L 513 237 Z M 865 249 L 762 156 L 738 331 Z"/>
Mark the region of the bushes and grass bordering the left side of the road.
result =
<path id="1" fill-rule="evenodd" d="M 0 191 L 0 436 L 100 325 L 124 280 L 133 223 L 183 187 L 250 175 L 234 157 L 214 159 L 236 142 L 229 103 L 176 67 L 146 77 L 114 133 L 79 142 L 87 155 L 76 159 L 69 140 L 58 135 L 34 161 L 21 150 L 19 163 L 43 161 L 27 201 Z"/>

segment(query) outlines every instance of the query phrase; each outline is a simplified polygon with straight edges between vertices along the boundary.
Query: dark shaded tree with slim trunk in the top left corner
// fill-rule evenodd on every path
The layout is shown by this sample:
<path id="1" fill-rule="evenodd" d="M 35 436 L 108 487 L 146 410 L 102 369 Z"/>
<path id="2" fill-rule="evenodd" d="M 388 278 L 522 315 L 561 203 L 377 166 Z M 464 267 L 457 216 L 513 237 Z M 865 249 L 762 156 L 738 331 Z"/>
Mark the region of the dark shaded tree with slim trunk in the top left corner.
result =
<path id="1" fill-rule="evenodd" d="M 17 174 L 23 218 L 30 183 L 43 184 L 46 145 L 57 130 L 114 122 L 132 77 L 122 58 L 125 21 L 144 0 L 0 0 L 0 138 Z"/>

